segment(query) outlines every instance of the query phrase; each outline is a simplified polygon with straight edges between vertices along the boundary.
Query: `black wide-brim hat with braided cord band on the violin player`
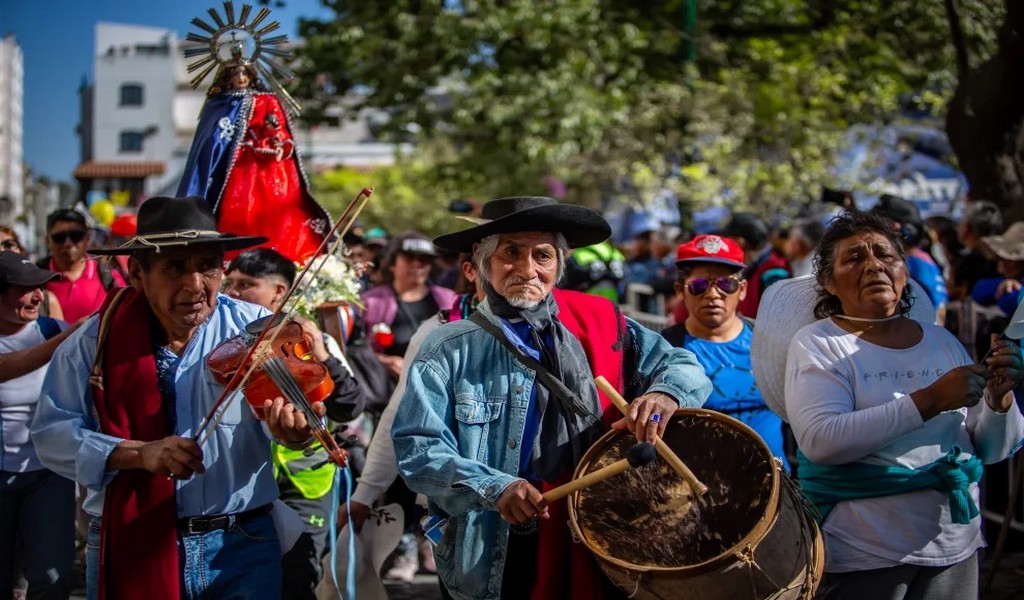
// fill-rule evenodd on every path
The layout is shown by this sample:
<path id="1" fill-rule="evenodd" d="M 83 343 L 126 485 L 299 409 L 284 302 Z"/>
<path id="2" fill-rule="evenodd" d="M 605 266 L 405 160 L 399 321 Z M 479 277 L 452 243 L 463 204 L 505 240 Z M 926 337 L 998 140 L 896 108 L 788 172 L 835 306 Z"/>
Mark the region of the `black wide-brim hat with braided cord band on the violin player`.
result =
<path id="1" fill-rule="evenodd" d="M 138 207 L 135 235 L 118 248 L 89 250 L 102 256 L 131 254 L 141 250 L 217 246 L 222 250 L 242 250 L 266 243 L 262 235 L 236 235 L 217 231 L 217 217 L 210 205 L 197 196 L 188 198 L 155 197 Z"/>

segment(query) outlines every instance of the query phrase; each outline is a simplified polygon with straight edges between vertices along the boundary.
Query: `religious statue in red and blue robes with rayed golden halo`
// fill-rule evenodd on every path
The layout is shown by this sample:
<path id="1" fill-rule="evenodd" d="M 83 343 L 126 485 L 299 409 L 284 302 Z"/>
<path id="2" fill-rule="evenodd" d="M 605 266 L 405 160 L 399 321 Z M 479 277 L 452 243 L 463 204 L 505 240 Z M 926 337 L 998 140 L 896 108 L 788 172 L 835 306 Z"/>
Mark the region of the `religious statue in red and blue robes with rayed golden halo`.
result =
<path id="1" fill-rule="evenodd" d="M 276 47 L 288 38 L 266 37 L 280 24 L 260 27 L 270 11 L 260 8 L 249 20 L 251 10 L 243 5 L 236 20 L 225 1 L 224 17 L 208 11 L 214 25 L 191 22 L 203 30 L 186 36 L 202 44 L 184 50 L 186 58 L 202 56 L 188 66 L 189 73 L 199 71 L 193 88 L 216 73 L 177 196 L 205 198 L 219 230 L 265 235 L 264 246 L 304 262 L 330 230 L 331 217 L 309 191 L 290 121 L 299 106 L 275 75 L 292 77 L 282 63 L 288 51 Z"/>

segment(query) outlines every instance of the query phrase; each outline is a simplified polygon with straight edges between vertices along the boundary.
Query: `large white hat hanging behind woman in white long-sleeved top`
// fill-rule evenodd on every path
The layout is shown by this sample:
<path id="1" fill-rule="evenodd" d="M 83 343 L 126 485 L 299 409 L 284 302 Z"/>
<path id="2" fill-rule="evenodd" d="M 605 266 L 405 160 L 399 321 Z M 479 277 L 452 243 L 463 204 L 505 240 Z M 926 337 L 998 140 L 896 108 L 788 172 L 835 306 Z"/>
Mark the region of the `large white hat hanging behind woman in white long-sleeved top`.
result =
<path id="1" fill-rule="evenodd" d="M 765 403 L 788 423 L 785 416 L 785 359 L 790 341 L 804 326 L 817 320 L 814 305 L 818 294 L 814 290 L 814 275 L 782 280 L 765 290 L 758 305 L 757 324 L 751 340 L 751 361 L 754 379 Z M 935 323 L 935 305 L 925 289 L 907 278 L 913 291 L 910 318 L 922 323 Z"/>

